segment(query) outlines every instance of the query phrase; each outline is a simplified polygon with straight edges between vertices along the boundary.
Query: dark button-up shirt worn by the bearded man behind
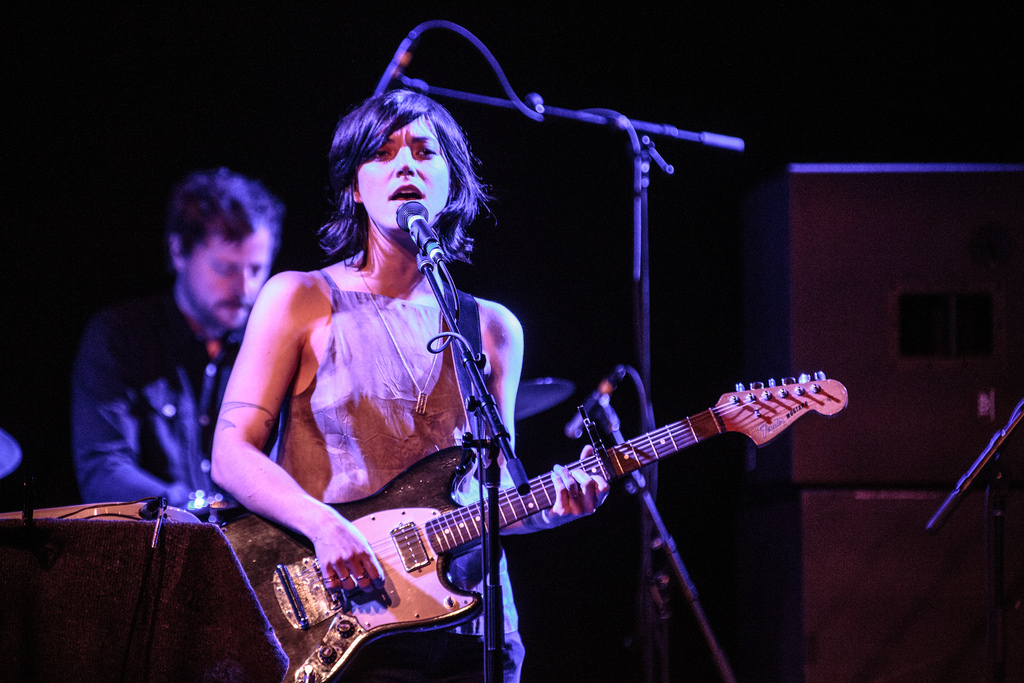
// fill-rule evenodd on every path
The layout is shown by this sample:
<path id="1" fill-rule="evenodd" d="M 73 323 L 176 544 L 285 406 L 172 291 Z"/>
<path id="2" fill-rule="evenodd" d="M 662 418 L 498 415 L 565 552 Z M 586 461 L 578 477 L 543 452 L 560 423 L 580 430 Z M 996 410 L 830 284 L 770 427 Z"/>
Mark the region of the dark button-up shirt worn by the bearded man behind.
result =
<path id="1" fill-rule="evenodd" d="M 241 331 L 210 359 L 170 294 L 89 323 L 72 376 L 72 453 L 85 503 L 221 493 L 210 478 L 220 400 Z"/>

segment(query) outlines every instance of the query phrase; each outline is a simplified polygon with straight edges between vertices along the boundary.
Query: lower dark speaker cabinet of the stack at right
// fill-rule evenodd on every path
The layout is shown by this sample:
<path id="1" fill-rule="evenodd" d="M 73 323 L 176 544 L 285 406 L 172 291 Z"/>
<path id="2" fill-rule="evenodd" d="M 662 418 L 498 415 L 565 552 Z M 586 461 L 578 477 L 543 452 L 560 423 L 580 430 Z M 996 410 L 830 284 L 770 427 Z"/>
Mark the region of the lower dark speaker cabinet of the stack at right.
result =
<path id="1" fill-rule="evenodd" d="M 938 492 L 803 489 L 740 516 L 737 678 L 984 683 L 985 499 L 938 533 Z M 765 522 L 770 523 L 765 523 Z M 1024 681 L 1024 494 L 1007 505 L 1006 681 Z"/>

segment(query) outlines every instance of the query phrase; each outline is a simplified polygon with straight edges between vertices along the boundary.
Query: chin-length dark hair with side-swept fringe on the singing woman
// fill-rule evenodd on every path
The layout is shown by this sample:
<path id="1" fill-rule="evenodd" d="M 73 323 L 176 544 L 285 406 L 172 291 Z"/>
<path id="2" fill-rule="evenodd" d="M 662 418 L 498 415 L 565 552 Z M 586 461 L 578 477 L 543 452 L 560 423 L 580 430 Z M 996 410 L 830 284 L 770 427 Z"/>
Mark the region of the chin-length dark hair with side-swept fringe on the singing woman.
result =
<path id="1" fill-rule="evenodd" d="M 370 97 L 338 122 L 328 157 L 334 210 L 319 229 L 321 247 L 329 257 L 351 259 L 362 252 L 366 259 L 369 219 L 355 201 L 356 173 L 394 131 L 420 118 L 433 125 L 451 174 L 447 205 L 434 217 L 437 237 L 447 254 L 469 262 L 473 238 L 468 226 L 490 198 L 476 173 L 477 160 L 465 132 L 447 110 L 411 90 Z"/>

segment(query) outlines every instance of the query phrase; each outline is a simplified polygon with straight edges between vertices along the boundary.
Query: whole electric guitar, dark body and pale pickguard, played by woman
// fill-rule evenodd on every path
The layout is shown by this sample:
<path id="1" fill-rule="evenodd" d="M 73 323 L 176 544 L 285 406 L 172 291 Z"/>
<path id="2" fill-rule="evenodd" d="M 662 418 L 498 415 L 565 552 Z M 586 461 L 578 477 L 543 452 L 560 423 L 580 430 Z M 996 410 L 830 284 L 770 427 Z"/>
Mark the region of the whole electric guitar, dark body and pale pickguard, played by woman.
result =
<path id="1" fill-rule="evenodd" d="M 600 447 L 569 465 L 611 481 L 698 441 L 739 432 L 763 445 L 810 413 L 836 415 L 847 403 L 840 382 L 818 373 L 723 394 L 714 408 L 627 442 Z M 324 682 L 337 676 L 372 640 L 406 631 L 430 631 L 474 618 L 476 593 L 451 585 L 446 568 L 460 548 L 478 541 L 484 510 L 452 501 L 453 472 L 462 447 L 432 454 L 378 493 L 334 507 L 359 528 L 384 569 L 376 594 L 328 591 L 312 545 L 302 536 L 257 515 L 228 522 L 224 535 L 249 577 L 289 656 L 285 680 Z M 551 473 L 530 480 L 528 494 L 499 494 L 502 526 L 551 508 Z"/>

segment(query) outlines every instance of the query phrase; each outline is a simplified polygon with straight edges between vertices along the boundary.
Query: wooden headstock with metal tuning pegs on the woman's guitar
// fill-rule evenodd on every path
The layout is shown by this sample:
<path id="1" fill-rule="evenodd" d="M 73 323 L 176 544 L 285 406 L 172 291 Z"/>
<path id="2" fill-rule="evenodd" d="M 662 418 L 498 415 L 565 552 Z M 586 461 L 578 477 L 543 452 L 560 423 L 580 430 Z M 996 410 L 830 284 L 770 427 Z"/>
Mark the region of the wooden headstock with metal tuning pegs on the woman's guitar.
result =
<path id="1" fill-rule="evenodd" d="M 776 383 L 753 382 L 736 385 L 736 391 L 722 394 L 712 409 L 726 431 L 740 432 L 757 445 L 764 445 L 811 412 L 831 416 L 846 408 L 846 387 L 824 373 L 802 375 Z"/>

